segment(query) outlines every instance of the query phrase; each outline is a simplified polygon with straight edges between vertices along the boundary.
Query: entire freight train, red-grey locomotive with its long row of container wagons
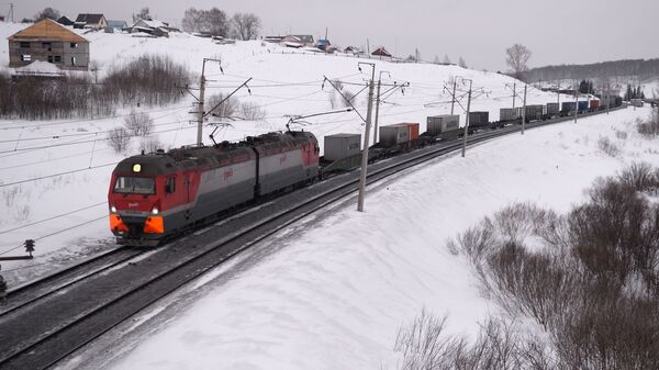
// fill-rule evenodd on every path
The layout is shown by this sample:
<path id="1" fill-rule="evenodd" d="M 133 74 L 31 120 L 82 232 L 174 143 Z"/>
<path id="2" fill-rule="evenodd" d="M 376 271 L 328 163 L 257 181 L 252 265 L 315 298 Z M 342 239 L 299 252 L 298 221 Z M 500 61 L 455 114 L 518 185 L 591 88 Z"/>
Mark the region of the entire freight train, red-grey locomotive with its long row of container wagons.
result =
<path id="1" fill-rule="evenodd" d="M 559 115 L 554 104 L 527 105 L 527 120 Z M 503 113 L 504 109 L 500 121 L 490 122 L 489 112 L 471 112 L 468 134 L 521 123 L 520 110 L 514 113 L 517 115 Z M 427 131 L 422 134 L 418 123 L 381 126 L 379 143 L 369 149 L 369 161 L 459 138 L 465 133 L 459 115 L 428 116 L 426 123 Z M 359 134 L 327 135 L 324 144 L 325 156 L 321 158 L 312 133 L 288 131 L 238 143 L 129 157 L 112 172 L 108 193 L 110 228 L 119 244 L 157 246 L 169 236 L 238 205 L 359 166 Z"/>

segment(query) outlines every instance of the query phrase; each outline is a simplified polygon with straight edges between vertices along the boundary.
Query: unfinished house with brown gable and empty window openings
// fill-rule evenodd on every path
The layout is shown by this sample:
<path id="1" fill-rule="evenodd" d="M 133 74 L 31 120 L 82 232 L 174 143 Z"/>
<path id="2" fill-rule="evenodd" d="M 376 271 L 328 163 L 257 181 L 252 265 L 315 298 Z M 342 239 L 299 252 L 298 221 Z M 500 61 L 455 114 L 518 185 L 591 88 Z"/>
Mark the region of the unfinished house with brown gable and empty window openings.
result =
<path id="1" fill-rule="evenodd" d="M 87 70 L 89 66 L 89 41 L 49 19 L 43 19 L 8 40 L 9 67 L 12 68 L 34 60 L 52 63 L 60 69 Z"/>

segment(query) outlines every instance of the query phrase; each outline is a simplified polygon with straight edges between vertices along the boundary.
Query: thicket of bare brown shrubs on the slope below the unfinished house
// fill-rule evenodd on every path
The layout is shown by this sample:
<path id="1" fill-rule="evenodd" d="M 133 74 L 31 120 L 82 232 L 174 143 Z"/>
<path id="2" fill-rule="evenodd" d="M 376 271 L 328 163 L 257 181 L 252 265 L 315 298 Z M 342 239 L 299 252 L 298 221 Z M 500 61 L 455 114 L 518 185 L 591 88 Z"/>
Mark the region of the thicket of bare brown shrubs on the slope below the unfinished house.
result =
<path id="1" fill-rule="evenodd" d="M 118 105 L 166 105 L 179 101 L 189 71 L 167 56 L 142 56 L 110 69 L 99 83 L 90 77 L 0 75 L 0 117 L 55 120 L 105 116 Z"/>

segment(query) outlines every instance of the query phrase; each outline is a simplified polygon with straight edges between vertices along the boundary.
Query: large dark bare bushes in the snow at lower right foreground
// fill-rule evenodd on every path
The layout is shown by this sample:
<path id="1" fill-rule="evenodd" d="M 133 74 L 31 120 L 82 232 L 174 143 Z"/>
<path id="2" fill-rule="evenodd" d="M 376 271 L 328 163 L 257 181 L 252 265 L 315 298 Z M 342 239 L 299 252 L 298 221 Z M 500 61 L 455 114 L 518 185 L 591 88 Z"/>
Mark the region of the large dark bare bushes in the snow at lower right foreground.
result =
<path id="1" fill-rule="evenodd" d="M 532 317 L 544 339 L 490 321 L 484 341 L 442 335 L 431 341 L 435 355 L 410 351 L 444 326 L 422 315 L 412 326 L 425 341 L 402 329 L 396 344 L 403 368 L 659 369 L 659 204 L 648 197 L 658 192 L 659 170 L 635 164 L 595 182 L 589 201 L 566 215 L 516 204 L 462 233 L 450 250 L 471 261 L 482 291 L 509 317 Z M 489 365 L 463 367 L 465 358 Z"/>

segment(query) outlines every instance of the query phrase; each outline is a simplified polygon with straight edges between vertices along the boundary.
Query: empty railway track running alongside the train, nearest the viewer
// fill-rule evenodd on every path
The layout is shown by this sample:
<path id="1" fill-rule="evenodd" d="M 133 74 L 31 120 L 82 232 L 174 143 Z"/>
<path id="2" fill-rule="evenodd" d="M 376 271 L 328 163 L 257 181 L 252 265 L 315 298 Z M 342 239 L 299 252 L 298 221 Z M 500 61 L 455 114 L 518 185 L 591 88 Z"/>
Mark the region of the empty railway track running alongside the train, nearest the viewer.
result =
<path id="1" fill-rule="evenodd" d="M 568 120 L 530 123 L 527 128 Z M 468 142 L 476 145 L 518 131 L 518 126 L 510 126 L 470 136 Z M 376 162 L 369 166 L 368 183 L 460 147 L 461 143 L 443 143 Z M 358 177 L 354 171 L 331 178 L 263 204 L 259 212 L 243 212 L 175 240 L 134 264 L 118 261 L 104 273 L 89 274 L 62 288 L 59 291 L 66 289 L 66 294 L 46 294 L 33 301 L 41 304 L 25 300 L 23 305 L 0 315 L 0 369 L 45 369 L 57 363 L 241 251 L 351 195 Z"/>

